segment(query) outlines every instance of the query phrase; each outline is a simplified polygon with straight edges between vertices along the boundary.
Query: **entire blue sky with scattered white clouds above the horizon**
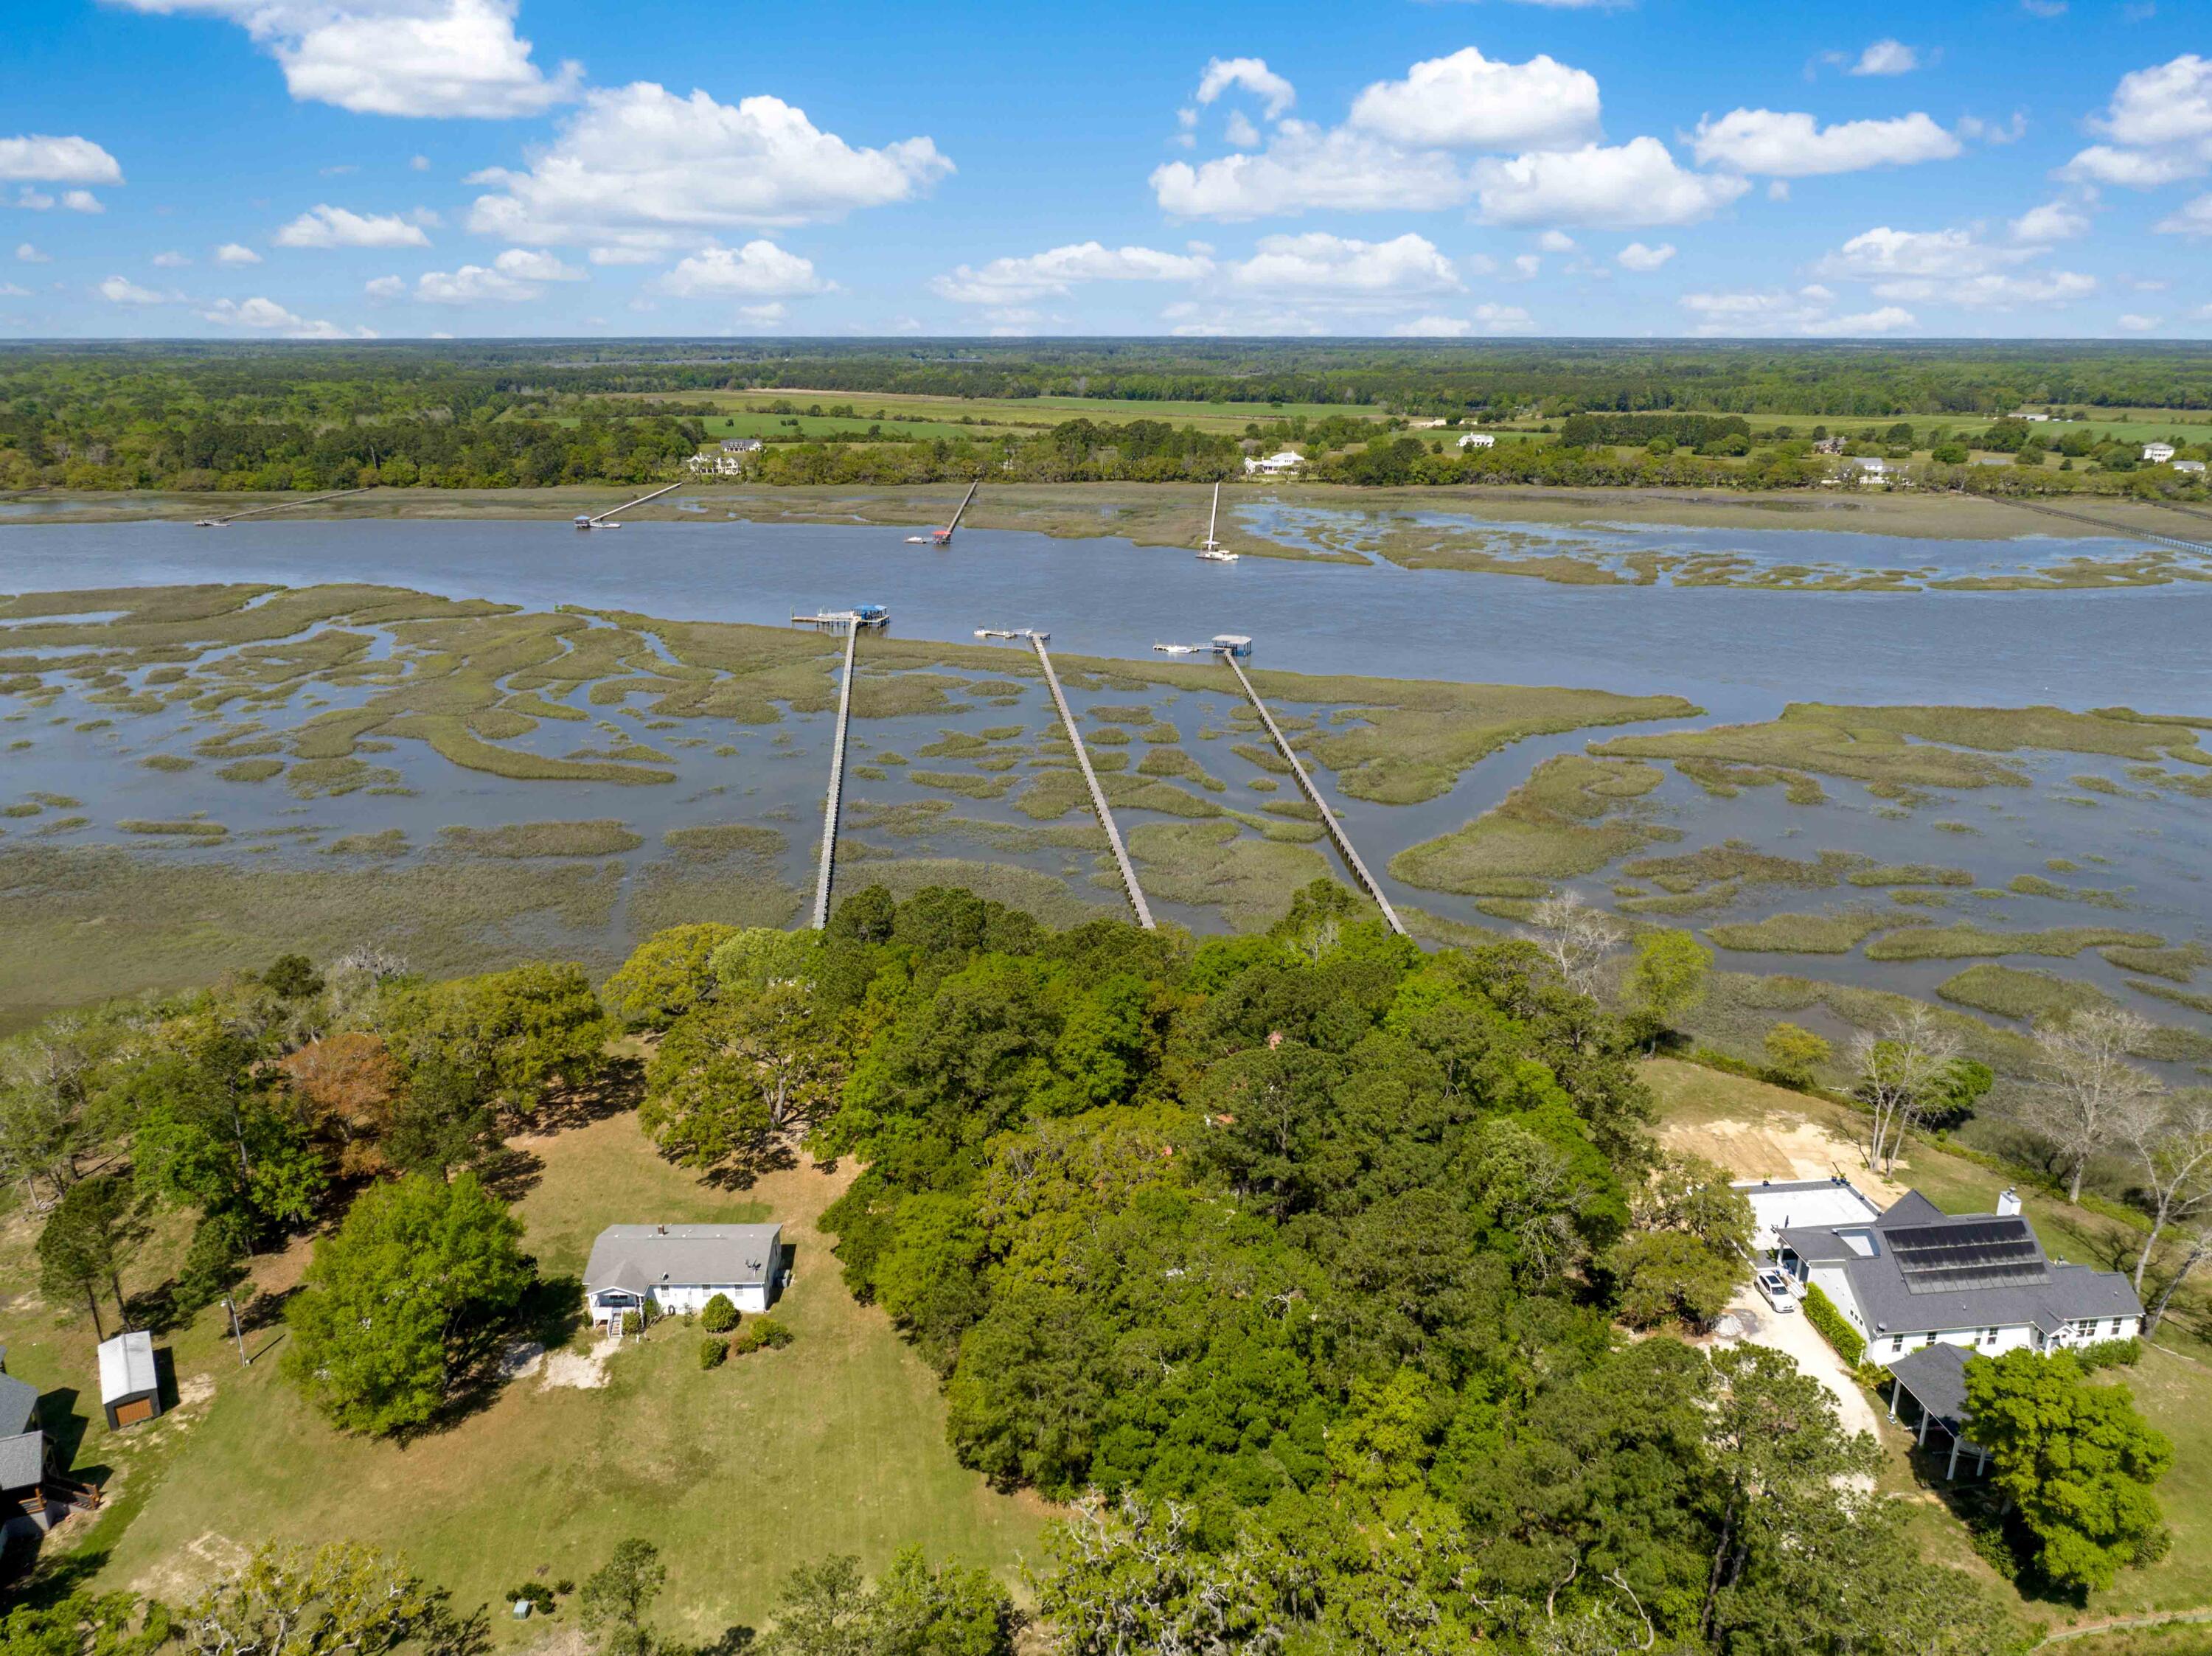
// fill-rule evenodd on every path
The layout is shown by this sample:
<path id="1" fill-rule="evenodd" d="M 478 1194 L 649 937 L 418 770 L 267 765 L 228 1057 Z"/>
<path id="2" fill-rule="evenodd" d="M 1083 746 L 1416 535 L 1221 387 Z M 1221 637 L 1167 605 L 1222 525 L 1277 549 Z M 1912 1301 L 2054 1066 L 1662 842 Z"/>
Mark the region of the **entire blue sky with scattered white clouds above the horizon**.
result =
<path id="1" fill-rule="evenodd" d="M 2212 7 L 11 0 L 0 336 L 2212 334 Z"/>

